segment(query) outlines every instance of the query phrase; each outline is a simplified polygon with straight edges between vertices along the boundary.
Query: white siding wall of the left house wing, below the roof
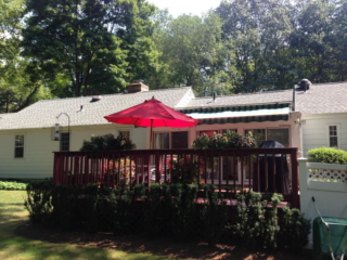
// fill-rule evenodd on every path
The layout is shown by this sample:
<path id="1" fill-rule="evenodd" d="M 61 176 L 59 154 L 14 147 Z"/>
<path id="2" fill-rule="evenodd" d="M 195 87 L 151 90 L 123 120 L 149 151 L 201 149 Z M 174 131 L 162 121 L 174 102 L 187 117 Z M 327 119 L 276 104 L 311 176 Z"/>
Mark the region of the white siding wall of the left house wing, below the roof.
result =
<path id="1" fill-rule="evenodd" d="M 113 133 L 129 130 L 138 148 L 146 148 L 145 128 L 107 123 L 91 127 L 70 128 L 70 151 L 79 151 L 83 140 L 90 135 Z M 67 129 L 64 129 L 66 131 Z M 14 136 L 24 134 L 24 158 L 14 158 Z M 51 129 L 30 129 L 0 132 L 0 179 L 44 179 L 53 177 L 53 152 L 60 151 L 60 142 L 52 141 Z"/>

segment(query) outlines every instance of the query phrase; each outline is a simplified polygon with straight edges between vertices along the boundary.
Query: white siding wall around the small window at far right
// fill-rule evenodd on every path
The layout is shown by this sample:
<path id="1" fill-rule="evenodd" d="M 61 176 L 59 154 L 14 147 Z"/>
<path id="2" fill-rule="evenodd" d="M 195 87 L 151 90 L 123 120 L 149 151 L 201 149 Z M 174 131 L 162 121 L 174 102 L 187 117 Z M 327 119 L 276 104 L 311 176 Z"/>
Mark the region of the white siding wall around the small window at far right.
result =
<path id="1" fill-rule="evenodd" d="M 304 154 L 311 148 L 329 147 L 327 127 L 338 126 L 338 148 L 347 151 L 347 114 L 303 115 Z"/>

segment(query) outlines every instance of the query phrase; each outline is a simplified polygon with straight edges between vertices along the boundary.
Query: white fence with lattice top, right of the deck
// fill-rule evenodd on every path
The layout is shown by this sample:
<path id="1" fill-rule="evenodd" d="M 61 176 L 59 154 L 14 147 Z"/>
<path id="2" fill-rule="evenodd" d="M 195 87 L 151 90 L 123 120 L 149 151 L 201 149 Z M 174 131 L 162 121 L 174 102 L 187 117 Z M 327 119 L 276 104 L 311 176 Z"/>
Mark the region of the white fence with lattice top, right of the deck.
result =
<path id="1" fill-rule="evenodd" d="M 312 203 L 323 217 L 347 218 L 347 165 L 308 162 L 299 158 L 300 210 L 312 221 L 318 217 Z M 312 235 L 309 237 L 312 248 Z"/>

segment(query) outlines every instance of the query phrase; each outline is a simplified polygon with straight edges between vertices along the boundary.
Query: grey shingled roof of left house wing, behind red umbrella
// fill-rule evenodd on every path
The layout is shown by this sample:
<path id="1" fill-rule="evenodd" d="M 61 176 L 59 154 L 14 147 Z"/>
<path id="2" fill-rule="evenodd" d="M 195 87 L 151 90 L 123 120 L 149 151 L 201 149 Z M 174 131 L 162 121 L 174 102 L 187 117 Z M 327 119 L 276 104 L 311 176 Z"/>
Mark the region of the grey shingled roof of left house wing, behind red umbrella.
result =
<path id="1" fill-rule="evenodd" d="M 138 93 L 119 93 L 102 95 L 100 101 L 91 102 L 92 96 L 42 100 L 18 113 L 0 116 L 0 130 L 49 128 L 59 122 L 67 126 L 66 113 L 70 126 L 90 126 L 110 123 L 104 116 L 138 105 L 154 96 L 166 105 L 177 108 L 185 106 L 194 98 L 191 87 L 160 89 Z M 82 110 L 81 110 L 82 106 Z"/>

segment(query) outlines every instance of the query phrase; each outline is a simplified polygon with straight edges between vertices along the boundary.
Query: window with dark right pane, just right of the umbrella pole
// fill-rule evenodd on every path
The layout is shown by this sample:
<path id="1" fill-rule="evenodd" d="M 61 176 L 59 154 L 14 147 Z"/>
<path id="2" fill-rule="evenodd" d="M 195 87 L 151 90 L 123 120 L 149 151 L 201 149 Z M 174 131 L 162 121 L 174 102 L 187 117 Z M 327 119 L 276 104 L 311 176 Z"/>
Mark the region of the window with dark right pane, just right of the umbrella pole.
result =
<path id="1" fill-rule="evenodd" d="M 188 132 L 155 133 L 154 148 L 188 148 Z"/>

